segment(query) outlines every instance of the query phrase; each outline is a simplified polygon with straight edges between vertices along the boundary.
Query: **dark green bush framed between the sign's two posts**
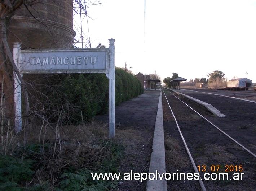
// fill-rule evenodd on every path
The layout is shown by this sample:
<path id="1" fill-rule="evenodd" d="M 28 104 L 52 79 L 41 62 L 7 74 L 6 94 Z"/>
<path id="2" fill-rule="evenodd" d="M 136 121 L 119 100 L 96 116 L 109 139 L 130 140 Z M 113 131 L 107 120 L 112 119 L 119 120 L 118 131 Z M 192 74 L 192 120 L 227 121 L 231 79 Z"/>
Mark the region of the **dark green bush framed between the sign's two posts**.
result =
<path id="1" fill-rule="evenodd" d="M 99 81 L 103 90 L 96 86 Z M 48 119 L 56 122 L 61 117 L 62 124 L 78 124 L 106 112 L 107 84 L 102 74 L 66 75 L 55 88 L 48 90 L 48 99 L 44 104 L 49 109 Z"/>

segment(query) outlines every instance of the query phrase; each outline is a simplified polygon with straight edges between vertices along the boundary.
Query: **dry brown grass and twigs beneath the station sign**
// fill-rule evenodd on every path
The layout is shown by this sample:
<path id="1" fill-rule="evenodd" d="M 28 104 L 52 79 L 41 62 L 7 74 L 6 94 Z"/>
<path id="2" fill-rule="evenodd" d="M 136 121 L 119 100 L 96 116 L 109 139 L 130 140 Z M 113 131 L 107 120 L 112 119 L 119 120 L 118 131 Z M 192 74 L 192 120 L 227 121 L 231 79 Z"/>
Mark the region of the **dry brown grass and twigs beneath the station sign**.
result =
<path id="1" fill-rule="evenodd" d="M 59 176 L 70 168 L 79 170 L 85 167 L 95 172 L 108 170 L 106 162 L 116 160 L 113 159 L 112 146 L 118 147 L 121 143 L 107 137 L 106 126 L 99 122 L 63 127 L 30 125 L 16 136 L 9 134 L 13 139 L 6 154 L 34 160 L 37 167 L 32 183 L 41 184 L 47 180 L 53 188 Z"/>

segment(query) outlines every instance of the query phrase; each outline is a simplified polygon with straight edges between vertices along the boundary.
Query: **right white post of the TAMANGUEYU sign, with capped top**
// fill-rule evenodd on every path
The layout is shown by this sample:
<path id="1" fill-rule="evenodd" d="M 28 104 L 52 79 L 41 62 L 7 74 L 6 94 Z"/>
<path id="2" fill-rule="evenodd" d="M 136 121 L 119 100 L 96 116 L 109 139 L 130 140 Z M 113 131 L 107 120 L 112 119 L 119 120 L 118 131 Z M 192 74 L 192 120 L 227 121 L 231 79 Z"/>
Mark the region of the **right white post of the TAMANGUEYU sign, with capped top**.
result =
<path id="1" fill-rule="evenodd" d="M 115 39 L 109 39 L 109 137 L 115 137 Z"/>

